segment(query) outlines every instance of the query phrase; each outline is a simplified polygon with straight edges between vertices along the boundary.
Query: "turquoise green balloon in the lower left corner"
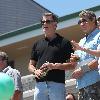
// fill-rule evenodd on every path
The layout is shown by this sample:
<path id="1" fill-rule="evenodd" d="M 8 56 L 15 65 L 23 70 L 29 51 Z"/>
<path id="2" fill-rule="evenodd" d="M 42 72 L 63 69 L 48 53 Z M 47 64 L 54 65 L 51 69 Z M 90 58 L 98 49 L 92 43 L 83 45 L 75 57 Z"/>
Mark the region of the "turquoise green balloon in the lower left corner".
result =
<path id="1" fill-rule="evenodd" d="M 11 100 L 14 91 L 13 79 L 6 73 L 0 72 L 0 100 Z"/>

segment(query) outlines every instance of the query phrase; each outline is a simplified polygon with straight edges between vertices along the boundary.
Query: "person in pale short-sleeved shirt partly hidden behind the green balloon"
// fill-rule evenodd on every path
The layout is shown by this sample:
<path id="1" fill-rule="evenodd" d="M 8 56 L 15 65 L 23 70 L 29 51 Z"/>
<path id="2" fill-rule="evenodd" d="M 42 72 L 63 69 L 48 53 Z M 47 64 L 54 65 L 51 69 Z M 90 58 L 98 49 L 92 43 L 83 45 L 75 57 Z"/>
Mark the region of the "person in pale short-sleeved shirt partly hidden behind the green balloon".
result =
<path id="1" fill-rule="evenodd" d="M 6 73 L 14 80 L 15 92 L 11 100 L 23 100 L 23 88 L 20 72 L 16 69 L 11 68 L 11 66 L 8 66 L 8 55 L 3 51 L 0 51 L 0 71 Z"/>

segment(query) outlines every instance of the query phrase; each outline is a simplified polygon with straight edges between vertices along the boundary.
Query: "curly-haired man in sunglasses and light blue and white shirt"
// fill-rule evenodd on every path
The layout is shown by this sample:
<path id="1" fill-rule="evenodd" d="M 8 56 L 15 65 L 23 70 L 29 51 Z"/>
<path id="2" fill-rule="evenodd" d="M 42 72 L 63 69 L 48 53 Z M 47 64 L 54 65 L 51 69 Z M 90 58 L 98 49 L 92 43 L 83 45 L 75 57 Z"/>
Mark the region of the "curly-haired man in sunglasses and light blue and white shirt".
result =
<path id="1" fill-rule="evenodd" d="M 83 10 L 79 14 L 78 24 L 85 33 L 80 40 L 81 47 L 97 50 L 100 44 L 100 30 L 97 29 L 96 15 L 93 11 Z M 95 56 L 76 50 L 71 56 L 73 59 L 79 57 L 76 69 L 72 77 L 77 81 L 79 89 L 78 100 L 99 100 L 100 99 L 100 74 L 98 72 L 98 60 Z"/>

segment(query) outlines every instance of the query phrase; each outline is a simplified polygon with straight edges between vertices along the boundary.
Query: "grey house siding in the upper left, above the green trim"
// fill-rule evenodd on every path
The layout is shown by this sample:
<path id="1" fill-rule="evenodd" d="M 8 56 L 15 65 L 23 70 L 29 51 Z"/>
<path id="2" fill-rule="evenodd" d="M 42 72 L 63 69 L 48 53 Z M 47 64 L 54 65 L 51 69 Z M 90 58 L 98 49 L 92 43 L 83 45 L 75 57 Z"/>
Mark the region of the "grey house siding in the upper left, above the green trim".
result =
<path id="1" fill-rule="evenodd" d="M 39 23 L 44 12 L 49 11 L 32 0 L 0 0 L 0 35 Z"/>

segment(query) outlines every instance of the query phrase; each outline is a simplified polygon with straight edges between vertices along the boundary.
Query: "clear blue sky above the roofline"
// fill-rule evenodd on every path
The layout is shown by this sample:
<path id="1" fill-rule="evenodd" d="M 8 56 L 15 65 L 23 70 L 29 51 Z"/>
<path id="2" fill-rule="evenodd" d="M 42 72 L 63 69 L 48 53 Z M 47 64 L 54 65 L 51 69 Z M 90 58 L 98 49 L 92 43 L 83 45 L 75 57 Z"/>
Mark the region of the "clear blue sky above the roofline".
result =
<path id="1" fill-rule="evenodd" d="M 58 16 L 68 15 L 100 5 L 100 0 L 35 0 Z"/>

